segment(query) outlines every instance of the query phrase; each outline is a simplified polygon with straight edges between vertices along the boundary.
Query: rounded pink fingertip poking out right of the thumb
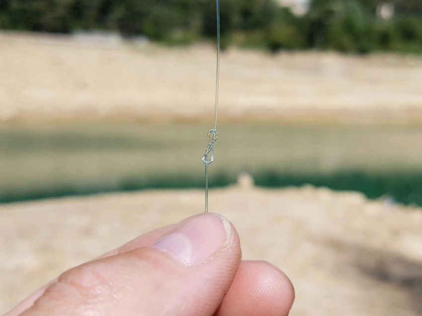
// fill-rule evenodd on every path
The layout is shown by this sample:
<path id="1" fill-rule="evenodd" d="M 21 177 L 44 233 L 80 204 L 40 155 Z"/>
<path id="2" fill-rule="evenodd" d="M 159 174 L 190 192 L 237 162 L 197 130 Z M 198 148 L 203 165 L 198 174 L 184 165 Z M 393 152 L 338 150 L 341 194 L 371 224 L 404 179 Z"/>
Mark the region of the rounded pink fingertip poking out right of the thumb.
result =
<path id="1" fill-rule="evenodd" d="M 215 316 L 286 316 L 293 301 L 293 285 L 281 270 L 243 261 Z"/>

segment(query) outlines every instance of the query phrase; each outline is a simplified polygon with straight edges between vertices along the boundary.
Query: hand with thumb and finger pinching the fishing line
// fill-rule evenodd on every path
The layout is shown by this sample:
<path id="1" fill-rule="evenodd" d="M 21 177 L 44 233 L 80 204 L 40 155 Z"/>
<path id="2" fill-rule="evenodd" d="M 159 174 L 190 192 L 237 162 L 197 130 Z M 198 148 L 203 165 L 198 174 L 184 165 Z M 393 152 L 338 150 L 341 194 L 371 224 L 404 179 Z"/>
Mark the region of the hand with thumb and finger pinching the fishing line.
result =
<path id="1" fill-rule="evenodd" d="M 285 274 L 241 261 L 233 225 L 207 213 L 71 268 L 4 316 L 284 316 L 293 300 Z"/>

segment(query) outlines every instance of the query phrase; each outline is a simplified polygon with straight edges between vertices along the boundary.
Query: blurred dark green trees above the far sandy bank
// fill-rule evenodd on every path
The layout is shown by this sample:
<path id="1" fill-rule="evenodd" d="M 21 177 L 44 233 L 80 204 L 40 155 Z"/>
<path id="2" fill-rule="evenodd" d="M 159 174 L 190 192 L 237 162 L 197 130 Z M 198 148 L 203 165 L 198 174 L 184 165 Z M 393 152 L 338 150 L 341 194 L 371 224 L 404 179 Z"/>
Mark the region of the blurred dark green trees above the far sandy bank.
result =
<path id="1" fill-rule="evenodd" d="M 393 18 L 377 17 L 381 3 Z M 296 16 L 276 0 L 221 0 L 221 36 L 243 47 L 273 52 L 422 52 L 421 0 L 312 0 Z M 111 30 L 167 44 L 214 38 L 213 0 L 0 0 L 0 28 L 39 32 Z"/>

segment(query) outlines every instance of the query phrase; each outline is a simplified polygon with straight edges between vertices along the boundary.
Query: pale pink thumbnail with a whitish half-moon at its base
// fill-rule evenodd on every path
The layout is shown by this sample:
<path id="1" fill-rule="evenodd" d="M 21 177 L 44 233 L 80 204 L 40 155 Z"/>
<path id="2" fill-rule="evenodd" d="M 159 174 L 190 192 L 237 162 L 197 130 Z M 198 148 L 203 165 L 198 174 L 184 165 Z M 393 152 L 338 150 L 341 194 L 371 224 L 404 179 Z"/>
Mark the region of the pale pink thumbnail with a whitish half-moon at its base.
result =
<path id="1" fill-rule="evenodd" d="M 219 214 L 207 213 L 185 219 L 170 233 L 151 244 L 185 265 L 205 263 L 230 241 L 230 222 Z"/>

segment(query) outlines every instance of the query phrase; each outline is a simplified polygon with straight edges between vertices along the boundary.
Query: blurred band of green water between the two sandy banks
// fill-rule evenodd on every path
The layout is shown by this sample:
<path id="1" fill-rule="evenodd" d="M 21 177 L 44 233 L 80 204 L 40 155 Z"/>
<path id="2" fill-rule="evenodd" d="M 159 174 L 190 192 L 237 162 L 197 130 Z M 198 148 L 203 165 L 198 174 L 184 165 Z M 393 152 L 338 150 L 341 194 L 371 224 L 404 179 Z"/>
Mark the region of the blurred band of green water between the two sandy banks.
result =
<path id="1" fill-rule="evenodd" d="M 0 202 L 202 188 L 202 123 L 0 125 Z M 211 186 L 313 184 L 422 205 L 422 127 L 223 123 Z"/>

